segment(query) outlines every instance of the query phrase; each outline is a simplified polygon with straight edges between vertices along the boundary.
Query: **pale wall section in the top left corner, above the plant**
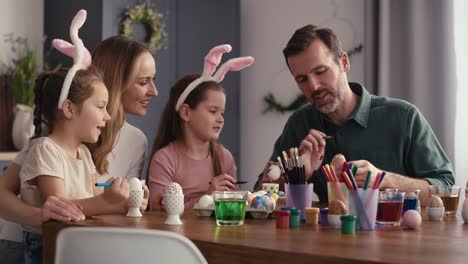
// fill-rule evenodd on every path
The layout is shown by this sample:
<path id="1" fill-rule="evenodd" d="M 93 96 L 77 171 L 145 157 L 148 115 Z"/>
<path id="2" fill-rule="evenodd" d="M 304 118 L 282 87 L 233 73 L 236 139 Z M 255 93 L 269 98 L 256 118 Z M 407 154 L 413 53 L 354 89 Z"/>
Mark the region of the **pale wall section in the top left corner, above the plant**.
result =
<path id="1" fill-rule="evenodd" d="M 11 59 L 4 34 L 27 37 L 32 45 L 40 45 L 44 34 L 44 0 L 2 0 L 0 8 L 0 65 Z M 35 47 L 35 46 L 33 46 Z M 3 67 L 2 67 L 3 68 Z M 3 69 L 0 68 L 0 71 Z"/>

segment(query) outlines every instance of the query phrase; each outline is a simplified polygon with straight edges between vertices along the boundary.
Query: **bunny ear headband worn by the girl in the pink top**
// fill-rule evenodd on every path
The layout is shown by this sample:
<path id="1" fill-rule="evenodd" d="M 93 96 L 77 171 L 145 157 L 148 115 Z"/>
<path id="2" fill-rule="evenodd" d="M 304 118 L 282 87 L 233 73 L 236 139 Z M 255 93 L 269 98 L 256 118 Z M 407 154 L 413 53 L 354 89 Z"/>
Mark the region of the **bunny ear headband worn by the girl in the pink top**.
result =
<path id="1" fill-rule="evenodd" d="M 245 67 L 250 66 L 254 62 L 254 58 L 250 56 L 230 59 L 221 65 L 218 71 L 214 73 L 216 67 L 218 67 L 219 63 L 221 62 L 221 57 L 223 54 L 230 52 L 231 49 L 231 45 L 224 44 L 216 46 L 212 48 L 210 52 L 208 52 L 208 54 L 205 56 L 205 65 L 203 67 L 202 75 L 200 78 L 191 82 L 179 96 L 175 107 L 176 111 L 179 111 L 180 106 L 184 103 L 185 99 L 187 99 L 187 96 L 201 83 L 208 81 L 220 83 L 228 71 L 240 71 Z"/>

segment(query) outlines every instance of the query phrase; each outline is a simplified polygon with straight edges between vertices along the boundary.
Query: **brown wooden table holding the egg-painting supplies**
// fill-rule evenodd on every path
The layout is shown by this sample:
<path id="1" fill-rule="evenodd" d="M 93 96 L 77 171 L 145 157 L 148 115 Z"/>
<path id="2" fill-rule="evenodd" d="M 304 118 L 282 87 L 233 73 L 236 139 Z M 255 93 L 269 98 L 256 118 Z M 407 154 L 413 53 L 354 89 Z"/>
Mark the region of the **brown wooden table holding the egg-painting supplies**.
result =
<path id="1" fill-rule="evenodd" d="M 142 218 L 105 215 L 78 223 L 43 226 L 44 263 L 53 263 L 57 233 L 70 226 L 112 226 L 169 230 L 191 239 L 209 263 L 466 263 L 468 224 L 461 219 L 423 221 L 419 230 L 377 228 L 343 235 L 340 229 L 301 225 L 276 229 L 274 219 L 246 219 L 239 227 L 218 227 L 214 218 L 190 210 L 183 225 L 165 225 L 165 213 Z"/>

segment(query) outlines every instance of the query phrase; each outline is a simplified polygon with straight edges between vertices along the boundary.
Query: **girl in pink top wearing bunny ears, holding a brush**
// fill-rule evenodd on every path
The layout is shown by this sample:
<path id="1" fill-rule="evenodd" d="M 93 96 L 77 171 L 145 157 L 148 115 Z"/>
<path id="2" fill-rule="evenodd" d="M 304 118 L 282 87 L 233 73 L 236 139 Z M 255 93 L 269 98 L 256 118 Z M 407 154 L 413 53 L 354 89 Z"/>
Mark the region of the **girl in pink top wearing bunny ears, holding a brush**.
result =
<path id="1" fill-rule="evenodd" d="M 148 172 L 152 210 L 161 208 L 162 191 L 170 182 L 182 187 L 185 208 L 191 208 L 204 194 L 238 189 L 234 158 L 216 143 L 226 104 L 219 82 L 227 71 L 247 67 L 253 58 L 232 59 L 212 76 L 222 54 L 230 49 L 230 45 L 213 48 L 205 57 L 201 75 L 186 75 L 171 88 Z"/>

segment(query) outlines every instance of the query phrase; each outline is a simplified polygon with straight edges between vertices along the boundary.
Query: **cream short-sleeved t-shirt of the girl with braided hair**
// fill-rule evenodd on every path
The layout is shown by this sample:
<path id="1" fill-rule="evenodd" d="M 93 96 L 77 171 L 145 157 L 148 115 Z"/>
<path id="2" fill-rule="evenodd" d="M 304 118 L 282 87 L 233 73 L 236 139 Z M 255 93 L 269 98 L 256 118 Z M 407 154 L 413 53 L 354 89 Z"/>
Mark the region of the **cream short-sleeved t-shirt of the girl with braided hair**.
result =
<path id="1" fill-rule="evenodd" d="M 21 158 L 21 155 L 20 155 Z M 38 176 L 48 175 L 63 179 L 68 199 L 84 199 L 94 196 L 93 184 L 96 168 L 91 153 L 85 145 L 78 149 L 78 158 L 70 156 L 48 137 L 31 142 L 30 149 L 22 162 L 20 171 L 21 198 L 28 204 L 41 207 L 43 200 L 36 184 L 31 181 Z M 31 232 L 37 228 L 25 226 Z"/>

